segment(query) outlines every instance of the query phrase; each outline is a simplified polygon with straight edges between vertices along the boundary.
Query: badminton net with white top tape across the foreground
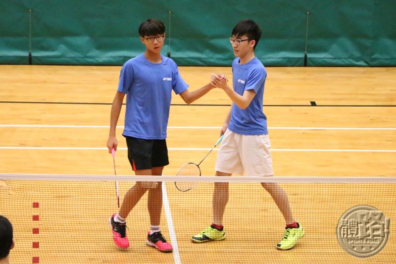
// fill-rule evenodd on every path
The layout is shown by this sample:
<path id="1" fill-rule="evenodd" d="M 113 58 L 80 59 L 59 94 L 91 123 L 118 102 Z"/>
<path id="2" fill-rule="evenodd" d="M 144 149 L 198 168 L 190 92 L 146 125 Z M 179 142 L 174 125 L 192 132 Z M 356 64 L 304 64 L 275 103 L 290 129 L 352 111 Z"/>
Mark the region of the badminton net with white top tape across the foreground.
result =
<path id="1" fill-rule="evenodd" d="M 148 194 L 127 217 L 130 248 L 115 246 L 108 225 L 108 218 L 118 211 L 115 180 L 120 203 L 136 181 L 162 181 L 160 228 L 173 245 L 172 253 L 158 252 L 145 243 L 150 226 Z M 15 248 L 10 251 L 10 260 L 14 264 L 396 262 L 396 240 L 392 238 L 396 231 L 396 178 L 201 176 L 194 179 L 198 184 L 189 192 L 178 191 L 176 180 L 192 181 L 189 176 L 0 174 L 0 214 L 14 227 Z M 229 184 L 223 217 L 227 237 L 193 243 L 191 237 L 212 223 L 214 182 Z M 285 232 L 285 220 L 261 183 L 282 186 L 294 218 L 305 230 L 291 250 L 276 249 Z M 347 223 L 348 219 L 342 218 L 360 205 L 376 208 L 390 220 L 388 227 L 385 224 L 379 230 L 375 227 L 381 218 L 373 214 L 366 219 L 371 221 L 366 224 L 366 237 L 377 234 L 378 240 L 381 232 L 391 235 L 381 250 L 367 259 L 348 253 L 345 247 L 353 245 L 342 246 L 339 239 L 362 236 L 358 220 Z M 362 246 L 357 240 L 350 241 Z M 374 248 L 379 242 L 375 243 L 373 240 L 366 246 Z"/>

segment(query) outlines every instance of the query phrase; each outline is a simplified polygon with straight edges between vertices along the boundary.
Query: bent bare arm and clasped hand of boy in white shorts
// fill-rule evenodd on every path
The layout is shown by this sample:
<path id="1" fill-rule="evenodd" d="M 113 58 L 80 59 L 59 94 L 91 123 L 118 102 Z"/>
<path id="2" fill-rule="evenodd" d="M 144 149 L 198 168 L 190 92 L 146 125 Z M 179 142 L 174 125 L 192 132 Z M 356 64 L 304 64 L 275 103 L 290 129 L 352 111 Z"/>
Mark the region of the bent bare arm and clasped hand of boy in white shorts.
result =
<path id="1" fill-rule="evenodd" d="M 255 96 L 254 90 L 246 90 L 244 94 L 241 96 L 237 94 L 228 84 L 227 77 L 224 75 L 211 74 L 211 84 L 221 88 L 226 92 L 228 97 L 232 100 L 232 102 L 237 105 L 241 109 L 246 109 L 247 106 L 250 105 L 251 100 L 253 100 Z"/>

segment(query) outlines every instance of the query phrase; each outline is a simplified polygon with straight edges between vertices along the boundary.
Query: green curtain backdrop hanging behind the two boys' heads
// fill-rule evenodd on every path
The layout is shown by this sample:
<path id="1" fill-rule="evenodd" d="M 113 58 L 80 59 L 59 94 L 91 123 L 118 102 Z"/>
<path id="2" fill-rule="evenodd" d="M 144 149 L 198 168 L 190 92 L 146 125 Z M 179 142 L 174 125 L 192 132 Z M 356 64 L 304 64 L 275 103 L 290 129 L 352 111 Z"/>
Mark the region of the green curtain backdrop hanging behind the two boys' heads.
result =
<path id="1" fill-rule="evenodd" d="M 140 23 L 157 18 L 163 55 L 229 66 L 232 28 L 251 18 L 266 66 L 302 66 L 305 46 L 308 66 L 396 66 L 395 17 L 396 0 L 1 0 L 0 64 L 29 64 L 31 52 L 33 64 L 121 65 L 144 51 Z"/>

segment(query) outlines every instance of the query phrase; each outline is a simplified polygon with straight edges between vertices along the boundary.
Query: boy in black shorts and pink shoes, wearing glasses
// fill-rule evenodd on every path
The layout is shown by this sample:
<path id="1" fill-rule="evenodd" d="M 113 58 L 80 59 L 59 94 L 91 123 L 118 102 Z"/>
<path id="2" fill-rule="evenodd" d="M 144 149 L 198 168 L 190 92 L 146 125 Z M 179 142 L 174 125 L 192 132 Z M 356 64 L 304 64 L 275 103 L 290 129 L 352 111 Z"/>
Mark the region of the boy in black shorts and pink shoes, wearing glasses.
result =
<path id="1" fill-rule="evenodd" d="M 141 42 L 146 51 L 124 63 L 120 73 L 118 89 L 110 113 L 110 132 L 107 140 L 109 153 L 117 150 L 115 128 L 125 95 L 125 127 L 128 159 L 136 175 L 162 175 L 169 164 L 166 146 L 171 93 L 180 95 L 187 104 L 205 95 L 213 85 L 190 92 L 189 85 L 182 79 L 176 63 L 160 54 L 165 39 L 165 26 L 161 21 L 148 19 L 139 27 Z M 161 182 L 136 182 L 125 194 L 121 208 L 114 213 L 109 223 L 114 243 L 122 249 L 129 247 L 126 235 L 126 217 L 148 191 L 148 213 L 150 231 L 146 244 L 161 252 L 171 252 L 160 231 L 162 208 Z"/>

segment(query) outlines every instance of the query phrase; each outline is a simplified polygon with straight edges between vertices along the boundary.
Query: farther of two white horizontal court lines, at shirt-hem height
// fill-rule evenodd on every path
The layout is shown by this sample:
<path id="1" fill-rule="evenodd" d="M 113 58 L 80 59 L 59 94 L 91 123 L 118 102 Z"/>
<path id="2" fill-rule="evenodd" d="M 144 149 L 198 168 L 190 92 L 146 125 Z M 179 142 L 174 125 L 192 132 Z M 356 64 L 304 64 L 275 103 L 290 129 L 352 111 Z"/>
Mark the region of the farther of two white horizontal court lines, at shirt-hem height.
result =
<path id="1" fill-rule="evenodd" d="M 108 125 L 19 125 L 0 124 L 0 127 L 59 127 L 59 128 L 109 128 Z M 124 126 L 117 126 L 123 128 Z M 220 129 L 217 126 L 168 126 L 169 129 Z M 268 129 L 284 130 L 396 130 L 396 127 L 285 127 L 274 126 Z"/>

